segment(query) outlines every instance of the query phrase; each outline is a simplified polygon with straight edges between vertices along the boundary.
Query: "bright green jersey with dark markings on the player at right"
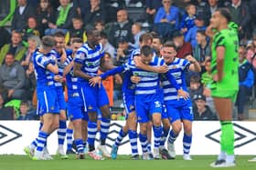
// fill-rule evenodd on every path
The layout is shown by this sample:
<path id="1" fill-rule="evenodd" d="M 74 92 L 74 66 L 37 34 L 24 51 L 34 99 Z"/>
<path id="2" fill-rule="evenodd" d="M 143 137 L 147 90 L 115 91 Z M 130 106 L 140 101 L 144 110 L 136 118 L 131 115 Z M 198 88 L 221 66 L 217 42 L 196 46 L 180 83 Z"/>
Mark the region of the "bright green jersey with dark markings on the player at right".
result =
<path id="1" fill-rule="evenodd" d="M 223 78 L 219 82 L 212 82 L 210 88 L 217 91 L 239 90 L 239 39 L 233 29 L 222 29 L 213 36 L 211 73 L 217 74 L 217 47 L 225 47 Z"/>

